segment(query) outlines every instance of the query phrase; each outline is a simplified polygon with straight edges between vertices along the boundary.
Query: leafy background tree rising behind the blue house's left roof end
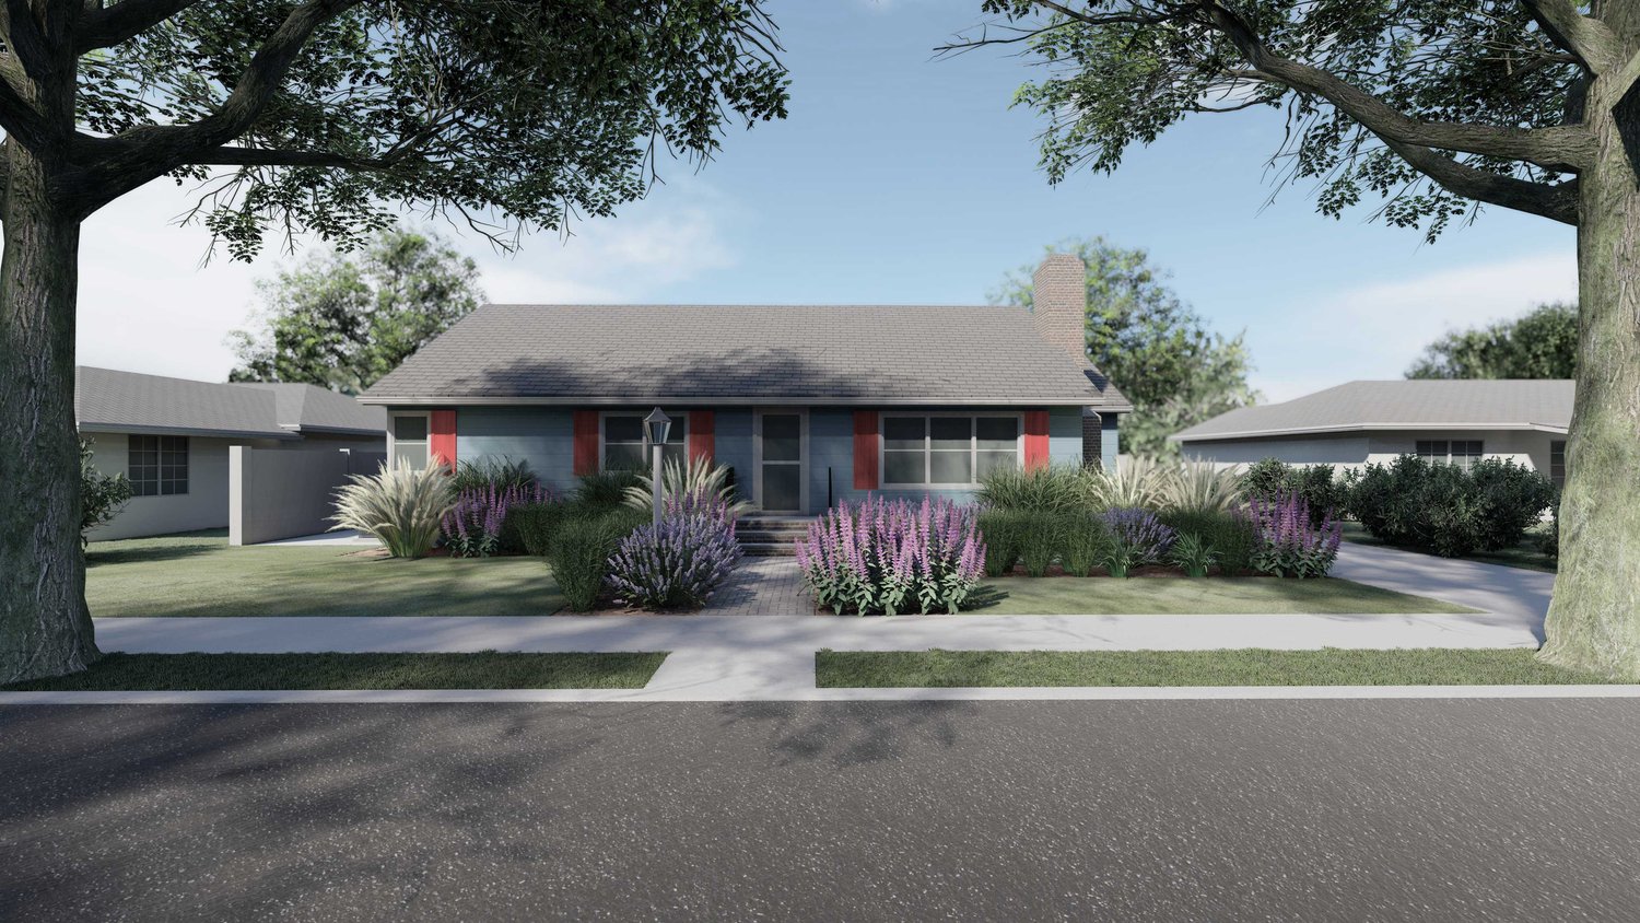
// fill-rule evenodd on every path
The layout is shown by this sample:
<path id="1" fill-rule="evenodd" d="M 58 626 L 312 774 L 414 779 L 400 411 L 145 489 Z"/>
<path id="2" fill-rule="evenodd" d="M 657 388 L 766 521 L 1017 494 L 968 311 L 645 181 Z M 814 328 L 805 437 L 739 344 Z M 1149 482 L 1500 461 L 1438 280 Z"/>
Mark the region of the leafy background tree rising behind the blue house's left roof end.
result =
<path id="1" fill-rule="evenodd" d="M 230 334 L 235 382 L 359 393 L 484 300 L 479 264 L 438 234 L 387 228 L 356 254 L 312 252 L 257 280 L 256 331 Z"/>

